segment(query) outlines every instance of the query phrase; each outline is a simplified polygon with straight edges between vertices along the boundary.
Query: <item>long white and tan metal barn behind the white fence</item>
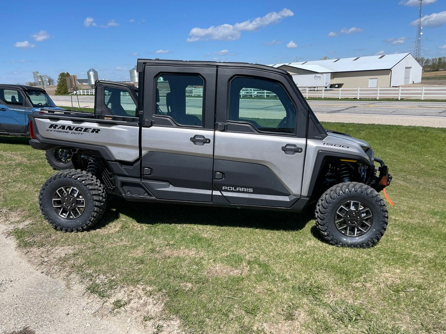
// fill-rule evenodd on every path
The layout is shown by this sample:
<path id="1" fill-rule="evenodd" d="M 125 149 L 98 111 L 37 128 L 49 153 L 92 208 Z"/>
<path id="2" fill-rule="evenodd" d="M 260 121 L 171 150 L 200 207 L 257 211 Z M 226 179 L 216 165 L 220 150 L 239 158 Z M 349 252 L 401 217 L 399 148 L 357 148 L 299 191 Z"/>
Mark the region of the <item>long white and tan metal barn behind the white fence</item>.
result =
<path id="1" fill-rule="evenodd" d="M 275 64 L 299 87 L 398 87 L 421 82 L 421 65 L 410 53 Z M 329 85 L 327 85 L 329 83 Z"/>

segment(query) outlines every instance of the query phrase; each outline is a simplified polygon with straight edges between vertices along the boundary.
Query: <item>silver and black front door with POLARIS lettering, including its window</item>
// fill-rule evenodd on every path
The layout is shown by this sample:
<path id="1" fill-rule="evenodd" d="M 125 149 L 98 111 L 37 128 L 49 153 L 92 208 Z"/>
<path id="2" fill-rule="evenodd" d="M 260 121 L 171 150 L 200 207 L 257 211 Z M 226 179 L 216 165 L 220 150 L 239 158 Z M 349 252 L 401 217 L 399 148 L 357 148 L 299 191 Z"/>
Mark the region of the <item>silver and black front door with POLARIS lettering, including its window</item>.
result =
<path id="1" fill-rule="evenodd" d="M 250 69 L 233 73 L 219 68 L 214 200 L 291 207 L 302 188 L 303 106 L 282 75 Z"/>

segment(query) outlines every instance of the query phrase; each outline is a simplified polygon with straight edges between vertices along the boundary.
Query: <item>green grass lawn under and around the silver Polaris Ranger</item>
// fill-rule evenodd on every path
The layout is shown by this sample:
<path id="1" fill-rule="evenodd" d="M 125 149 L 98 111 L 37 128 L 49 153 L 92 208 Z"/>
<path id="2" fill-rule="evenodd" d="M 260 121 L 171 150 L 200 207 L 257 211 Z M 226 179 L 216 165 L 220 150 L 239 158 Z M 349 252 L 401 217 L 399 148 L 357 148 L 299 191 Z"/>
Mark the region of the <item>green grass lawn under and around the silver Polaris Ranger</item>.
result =
<path id="1" fill-rule="evenodd" d="M 37 199 L 54 171 L 16 137 L 0 137 L 0 215 L 20 247 L 45 251 L 43 266 L 76 274 L 111 312 L 137 303 L 122 291 L 162 301 L 156 316 L 135 311 L 154 332 L 174 318 L 190 333 L 445 333 L 445 129 L 324 125 L 366 140 L 390 168 L 395 205 L 373 248 L 325 243 L 312 212 L 119 198 L 95 229 L 56 232 Z"/>

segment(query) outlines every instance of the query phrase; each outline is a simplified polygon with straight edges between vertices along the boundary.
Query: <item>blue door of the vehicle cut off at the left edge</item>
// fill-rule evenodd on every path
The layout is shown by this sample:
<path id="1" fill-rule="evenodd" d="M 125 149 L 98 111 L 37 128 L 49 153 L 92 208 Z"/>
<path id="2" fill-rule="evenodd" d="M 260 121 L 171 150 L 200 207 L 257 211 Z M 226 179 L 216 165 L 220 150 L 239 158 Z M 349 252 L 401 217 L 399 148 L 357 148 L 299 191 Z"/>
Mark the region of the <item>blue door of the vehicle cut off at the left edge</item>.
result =
<path id="1" fill-rule="evenodd" d="M 0 133 L 24 134 L 27 124 L 22 92 L 12 88 L 0 89 Z"/>

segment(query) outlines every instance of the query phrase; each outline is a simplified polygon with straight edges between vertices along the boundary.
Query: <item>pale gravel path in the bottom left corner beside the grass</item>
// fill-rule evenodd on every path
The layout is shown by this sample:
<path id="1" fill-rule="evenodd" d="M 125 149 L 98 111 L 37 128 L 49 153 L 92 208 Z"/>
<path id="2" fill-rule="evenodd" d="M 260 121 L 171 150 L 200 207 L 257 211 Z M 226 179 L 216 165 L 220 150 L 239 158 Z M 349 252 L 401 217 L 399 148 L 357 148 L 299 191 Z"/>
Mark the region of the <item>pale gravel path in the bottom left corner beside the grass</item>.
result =
<path id="1" fill-rule="evenodd" d="M 99 298 L 85 293 L 85 286 L 51 278 L 43 268 L 30 264 L 8 234 L 12 225 L 1 216 L 0 334 L 155 332 L 153 326 L 143 327 L 133 315 L 107 314 Z M 179 333 L 177 322 L 169 325 L 157 327 L 156 332 Z"/>

